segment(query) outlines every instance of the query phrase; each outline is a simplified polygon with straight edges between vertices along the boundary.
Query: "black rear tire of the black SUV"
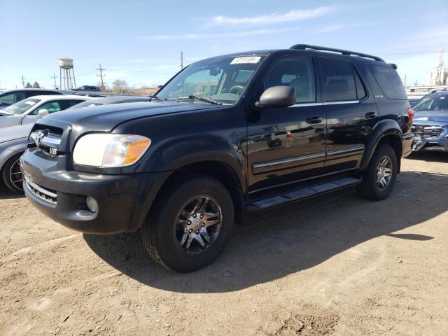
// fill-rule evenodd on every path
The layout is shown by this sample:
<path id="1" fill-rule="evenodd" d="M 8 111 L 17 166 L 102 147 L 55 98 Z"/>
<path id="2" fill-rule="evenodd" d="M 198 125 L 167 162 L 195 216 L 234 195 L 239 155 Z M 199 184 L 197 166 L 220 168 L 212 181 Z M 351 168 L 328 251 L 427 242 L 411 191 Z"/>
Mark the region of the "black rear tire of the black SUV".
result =
<path id="1" fill-rule="evenodd" d="M 390 163 L 390 165 L 386 165 L 388 166 L 388 169 L 386 169 L 384 175 L 382 175 L 384 181 L 386 181 L 387 177 L 390 177 L 390 179 L 387 180 L 386 186 L 384 186 L 384 181 L 379 179 L 381 170 L 378 170 L 380 169 L 380 164 L 384 164 L 385 160 L 388 160 L 388 163 Z M 387 172 L 390 172 L 390 176 L 386 176 L 388 174 Z M 393 151 L 393 148 L 389 145 L 381 145 L 377 148 L 377 151 L 375 151 L 367 171 L 363 174 L 363 182 L 356 186 L 356 190 L 360 196 L 369 200 L 384 200 L 392 193 L 395 179 L 397 178 L 397 172 L 398 158 L 395 151 Z"/>

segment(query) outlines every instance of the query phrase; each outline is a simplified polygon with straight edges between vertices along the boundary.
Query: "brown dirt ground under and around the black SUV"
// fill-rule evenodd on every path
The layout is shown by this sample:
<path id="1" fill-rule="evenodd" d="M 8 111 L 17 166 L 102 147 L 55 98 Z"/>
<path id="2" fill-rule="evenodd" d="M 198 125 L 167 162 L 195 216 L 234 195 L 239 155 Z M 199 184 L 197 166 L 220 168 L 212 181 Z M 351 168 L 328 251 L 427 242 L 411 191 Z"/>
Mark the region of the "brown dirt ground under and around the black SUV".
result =
<path id="1" fill-rule="evenodd" d="M 351 190 L 237 226 L 198 272 L 139 232 L 83 235 L 0 192 L 0 335 L 448 335 L 448 155 L 402 161 L 393 195 Z"/>

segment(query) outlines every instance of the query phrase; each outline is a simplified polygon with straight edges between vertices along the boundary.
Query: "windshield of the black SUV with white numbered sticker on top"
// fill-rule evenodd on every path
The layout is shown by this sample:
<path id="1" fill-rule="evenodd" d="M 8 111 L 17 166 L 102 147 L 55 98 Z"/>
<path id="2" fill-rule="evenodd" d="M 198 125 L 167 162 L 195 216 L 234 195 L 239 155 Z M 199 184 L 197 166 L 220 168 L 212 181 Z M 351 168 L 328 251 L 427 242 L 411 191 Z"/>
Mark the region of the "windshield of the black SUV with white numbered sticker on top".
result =
<path id="1" fill-rule="evenodd" d="M 155 100 L 235 104 L 264 56 L 223 57 L 190 64 Z"/>

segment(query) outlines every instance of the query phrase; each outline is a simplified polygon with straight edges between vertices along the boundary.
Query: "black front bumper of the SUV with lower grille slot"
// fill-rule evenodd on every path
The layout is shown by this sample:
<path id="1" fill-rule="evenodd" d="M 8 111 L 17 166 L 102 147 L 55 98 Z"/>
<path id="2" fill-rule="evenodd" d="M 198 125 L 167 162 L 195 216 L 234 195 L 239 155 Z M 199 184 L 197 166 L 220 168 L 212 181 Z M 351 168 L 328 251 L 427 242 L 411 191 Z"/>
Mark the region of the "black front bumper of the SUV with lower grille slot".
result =
<path id="1" fill-rule="evenodd" d="M 80 232 L 112 234 L 137 230 L 166 176 L 68 171 L 58 159 L 43 155 L 36 148 L 25 151 L 20 159 L 25 195 L 43 214 Z M 88 209 L 87 196 L 97 201 L 98 211 Z"/>

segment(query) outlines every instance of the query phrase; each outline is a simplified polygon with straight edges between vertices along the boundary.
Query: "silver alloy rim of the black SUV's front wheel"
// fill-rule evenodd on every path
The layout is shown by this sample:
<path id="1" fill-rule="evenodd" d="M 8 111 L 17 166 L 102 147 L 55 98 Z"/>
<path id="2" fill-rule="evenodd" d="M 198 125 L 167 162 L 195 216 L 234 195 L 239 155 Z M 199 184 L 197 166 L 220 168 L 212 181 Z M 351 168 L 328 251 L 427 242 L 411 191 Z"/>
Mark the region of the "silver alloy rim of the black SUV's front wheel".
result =
<path id="1" fill-rule="evenodd" d="M 211 196 L 199 195 L 186 202 L 176 216 L 174 240 L 183 252 L 202 253 L 218 238 L 223 211 Z"/>

